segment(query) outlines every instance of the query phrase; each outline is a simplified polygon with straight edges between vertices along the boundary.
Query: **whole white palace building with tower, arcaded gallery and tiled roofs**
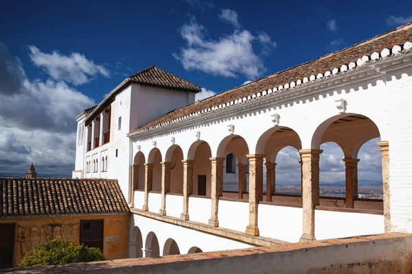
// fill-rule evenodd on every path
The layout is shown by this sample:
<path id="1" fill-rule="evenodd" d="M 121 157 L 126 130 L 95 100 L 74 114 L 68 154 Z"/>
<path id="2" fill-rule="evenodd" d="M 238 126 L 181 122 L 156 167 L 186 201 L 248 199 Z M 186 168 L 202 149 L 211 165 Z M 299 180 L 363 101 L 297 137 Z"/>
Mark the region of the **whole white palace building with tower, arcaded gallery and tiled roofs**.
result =
<path id="1" fill-rule="evenodd" d="M 411 23 L 195 102 L 200 90 L 150 66 L 76 116 L 73 178 L 118 180 L 130 258 L 412 233 Z M 361 199 L 358 151 L 378 137 L 383 199 Z M 344 153 L 345 198 L 319 195 L 325 142 Z M 288 146 L 302 195 L 275 192 Z"/>

